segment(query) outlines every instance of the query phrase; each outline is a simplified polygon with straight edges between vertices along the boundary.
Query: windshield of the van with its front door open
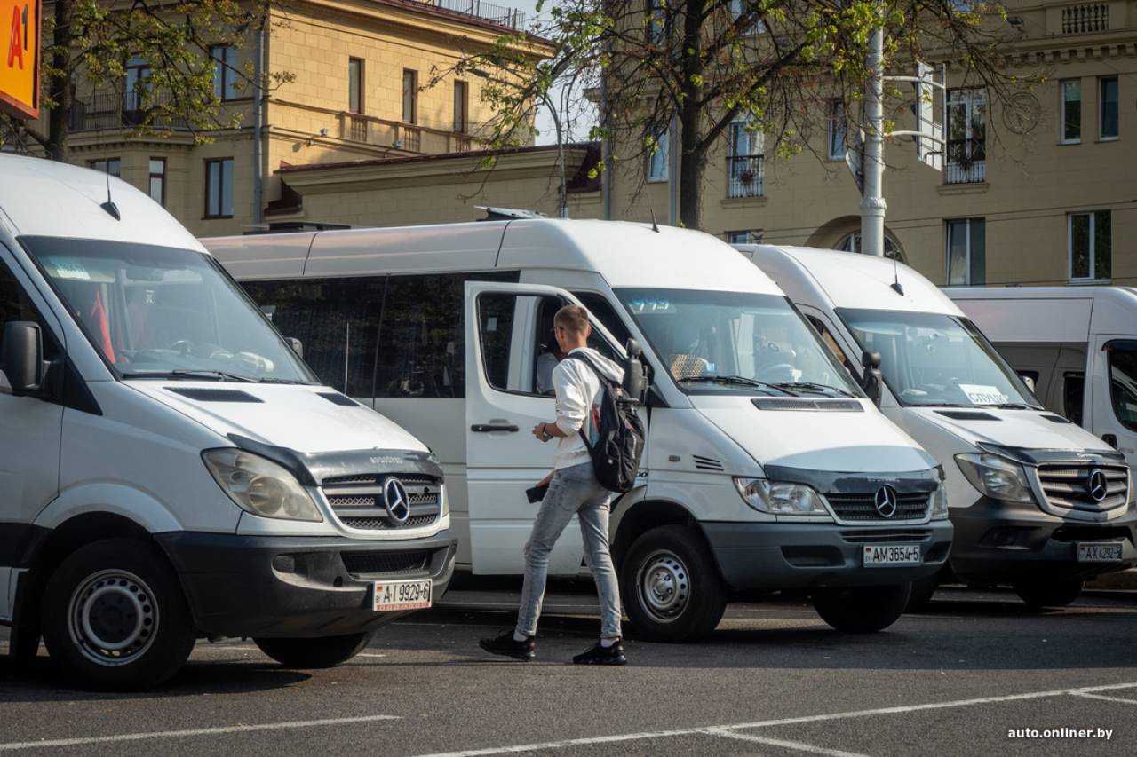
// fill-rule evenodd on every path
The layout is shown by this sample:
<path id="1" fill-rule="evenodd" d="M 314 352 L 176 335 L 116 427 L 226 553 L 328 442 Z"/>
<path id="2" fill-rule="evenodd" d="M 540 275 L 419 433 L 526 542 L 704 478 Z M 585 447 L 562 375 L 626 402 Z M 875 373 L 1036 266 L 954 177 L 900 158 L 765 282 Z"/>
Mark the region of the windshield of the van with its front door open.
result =
<path id="1" fill-rule="evenodd" d="M 862 396 L 783 297 L 677 289 L 615 293 L 684 391 Z"/>

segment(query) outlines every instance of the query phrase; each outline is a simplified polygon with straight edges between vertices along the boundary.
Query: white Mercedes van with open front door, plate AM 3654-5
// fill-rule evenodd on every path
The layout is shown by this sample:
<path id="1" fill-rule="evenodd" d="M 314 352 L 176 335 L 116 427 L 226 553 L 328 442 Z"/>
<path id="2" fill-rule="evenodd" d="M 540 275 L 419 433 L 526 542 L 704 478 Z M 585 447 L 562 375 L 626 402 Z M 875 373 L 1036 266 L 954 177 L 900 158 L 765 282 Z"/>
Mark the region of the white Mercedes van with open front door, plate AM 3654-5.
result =
<path id="1" fill-rule="evenodd" d="M 520 575 L 553 448 L 553 316 L 652 376 L 640 484 L 614 504 L 628 614 L 686 640 L 741 590 L 805 589 L 831 625 L 885 627 L 943 566 L 935 460 L 877 411 L 786 296 L 699 232 L 480 222 L 204 240 L 329 384 L 426 441 L 449 482 L 458 566 Z M 574 529 L 550 573 L 587 574 Z"/>

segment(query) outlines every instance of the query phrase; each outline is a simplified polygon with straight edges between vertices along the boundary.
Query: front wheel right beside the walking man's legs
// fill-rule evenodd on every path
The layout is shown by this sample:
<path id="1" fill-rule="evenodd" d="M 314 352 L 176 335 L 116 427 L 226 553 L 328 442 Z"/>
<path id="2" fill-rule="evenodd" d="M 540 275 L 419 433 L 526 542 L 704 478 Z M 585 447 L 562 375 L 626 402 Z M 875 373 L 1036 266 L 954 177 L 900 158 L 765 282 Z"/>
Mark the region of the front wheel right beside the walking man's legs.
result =
<path id="1" fill-rule="evenodd" d="M 690 529 L 652 529 L 632 542 L 621 566 L 624 609 L 644 639 L 695 641 L 722 619 L 727 591 Z"/>

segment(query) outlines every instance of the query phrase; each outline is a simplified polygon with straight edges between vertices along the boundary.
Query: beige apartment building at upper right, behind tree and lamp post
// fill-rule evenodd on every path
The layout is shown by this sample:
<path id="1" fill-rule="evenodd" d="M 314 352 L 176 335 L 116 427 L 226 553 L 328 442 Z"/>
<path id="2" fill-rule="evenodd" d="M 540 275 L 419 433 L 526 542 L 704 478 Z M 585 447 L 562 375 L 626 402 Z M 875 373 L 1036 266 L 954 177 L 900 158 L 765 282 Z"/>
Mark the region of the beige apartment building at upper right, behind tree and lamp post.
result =
<path id="1" fill-rule="evenodd" d="M 943 170 L 911 139 L 886 144 L 887 251 L 940 284 L 1137 284 L 1137 2 L 1006 5 L 1012 72 L 1047 82 L 1012 113 L 953 86 L 961 70 L 948 66 Z M 706 172 L 705 231 L 855 250 L 850 127 L 845 103 L 830 108 L 813 153 L 788 160 L 747 124 L 728 130 Z M 667 218 L 675 165 L 663 149 L 614 172 L 613 217 Z"/>

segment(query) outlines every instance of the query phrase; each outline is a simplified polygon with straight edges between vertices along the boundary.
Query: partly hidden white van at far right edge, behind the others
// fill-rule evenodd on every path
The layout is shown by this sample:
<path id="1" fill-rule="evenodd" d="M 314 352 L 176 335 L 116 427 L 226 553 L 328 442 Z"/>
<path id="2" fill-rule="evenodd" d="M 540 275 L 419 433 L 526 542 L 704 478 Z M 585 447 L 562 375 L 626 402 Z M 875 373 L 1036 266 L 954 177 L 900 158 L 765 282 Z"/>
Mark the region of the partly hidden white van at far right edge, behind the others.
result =
<path id="1" fill-rule="evenodd" d="M 1137 466 L 1137 289 L 944 290 L 1035 396 Z"/>

